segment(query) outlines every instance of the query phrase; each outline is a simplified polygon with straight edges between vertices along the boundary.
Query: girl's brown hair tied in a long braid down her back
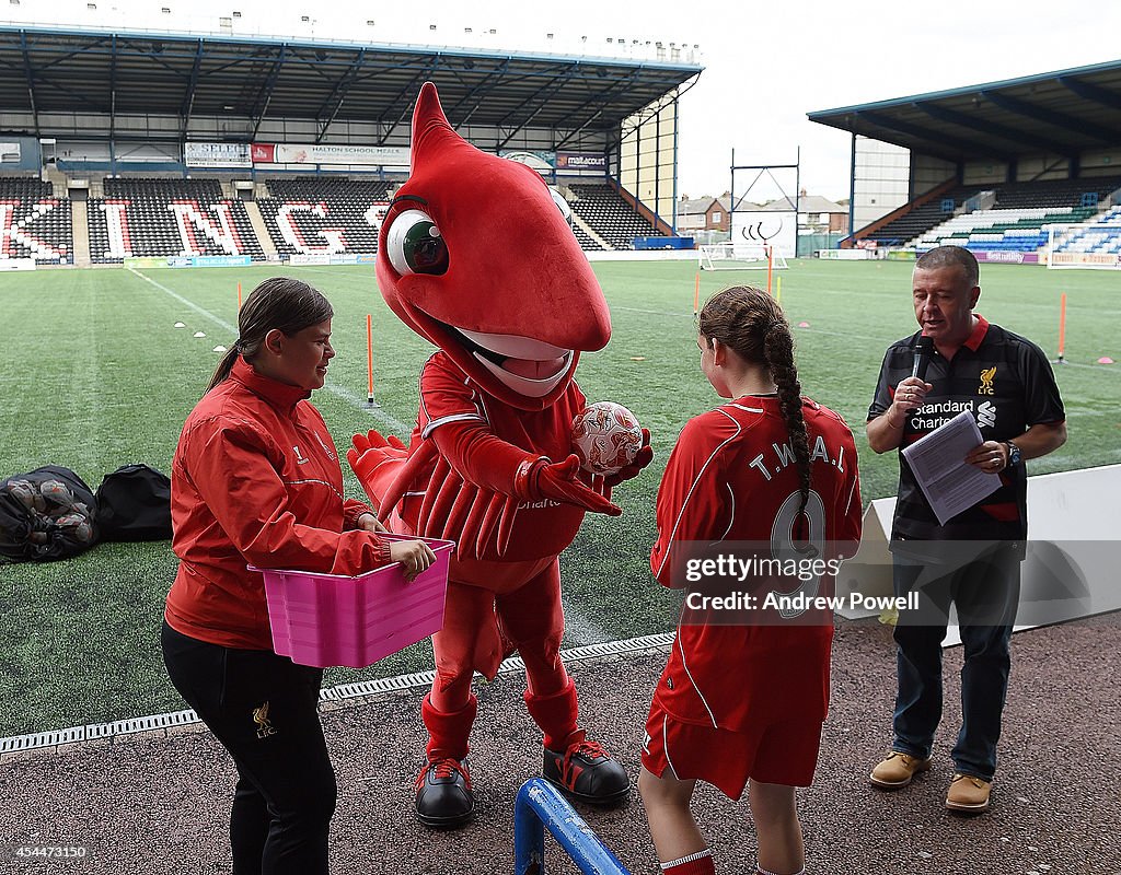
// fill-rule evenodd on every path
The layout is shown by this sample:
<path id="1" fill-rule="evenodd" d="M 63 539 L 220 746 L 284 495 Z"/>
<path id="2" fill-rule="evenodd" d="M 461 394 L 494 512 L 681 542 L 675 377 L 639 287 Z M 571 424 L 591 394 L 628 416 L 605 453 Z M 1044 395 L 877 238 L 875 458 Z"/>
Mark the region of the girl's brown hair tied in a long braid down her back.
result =
<path id="1" fill-rule="evenodd" d="M 802 504 L 809 501 L 809 435 L 802 415 L 802 383 L 794 363 L 794 335 L 773 298 L 753 286 L 733 286 L 717 291 L 705 301 L 697 320 L 705 337 L 715 337 L 744 361 L 765 365 L 778 387 L 779 407 L 794 460 L 798 467 Z"/>

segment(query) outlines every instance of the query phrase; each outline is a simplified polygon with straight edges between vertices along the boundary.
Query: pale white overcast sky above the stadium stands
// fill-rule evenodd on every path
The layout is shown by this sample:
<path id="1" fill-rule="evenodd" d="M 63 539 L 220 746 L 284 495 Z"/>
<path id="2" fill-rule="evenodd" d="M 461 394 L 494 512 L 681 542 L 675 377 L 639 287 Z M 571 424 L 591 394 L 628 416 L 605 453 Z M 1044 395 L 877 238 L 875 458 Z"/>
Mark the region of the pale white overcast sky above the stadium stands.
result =
<path id="1" fill-rule="evenodd" d="M 484 39 L 497 50 L 563 52 L 605 37 L 701 47 L 705 72 L 682 97 L 678 190 L 697 197 L 729 187 L 736 164 L 793 164 L 802 185 L 849 195 L 849 134 L 814 124 L 813 110 L 1046 73 L 1121 58 L 1118 0 L 448 0 L 321 3 L 315 0 L 96 0 L 121 26 L 155 21 L 188 29 L 195 16 L 239 10 L 242 32 L 429 41 Z M 86 0 L 22 0 L 4 12 L 72 24 Z M 161 13 L 167 7 L 170 13 Z M 3 15 L 3 12 L 0 12 Z M 300 21 L 307 16 L 309 21 Z M 367 21 L 374 21 L 367 26 Z M 180 24 L 182 22 L 182 24 Z M 429 25 L 436 24 L 435 31 Z M 471 27 L 473 36 L 463 36 Z M 498 32 L 489 36 L 493 28 Z M 546 32 L 554 39 L 547 40 Z M 488 35 L 481 37 L 480 35 Z M 587 41 L 581 43 L 580 37 Z M 742 194 L 751 178 L 736 176 Z M 781 177 L 784 186 L 793 177 Z M 768 193 L 768 196 L 769 193 Z M 752 198 L 752 199 L 762 199 Z"/>

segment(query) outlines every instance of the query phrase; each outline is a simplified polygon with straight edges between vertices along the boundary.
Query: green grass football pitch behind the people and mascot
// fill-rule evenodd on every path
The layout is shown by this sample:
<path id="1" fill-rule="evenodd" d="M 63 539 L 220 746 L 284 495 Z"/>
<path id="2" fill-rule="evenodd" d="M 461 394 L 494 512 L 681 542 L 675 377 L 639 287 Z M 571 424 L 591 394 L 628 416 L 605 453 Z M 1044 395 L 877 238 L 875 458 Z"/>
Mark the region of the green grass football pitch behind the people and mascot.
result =
<path id="1" fill-rule="evenodd" d="M 589 399 L 630 407 L 652 432 L 657 456 L 648 473 L 617 491 L 624 515 L 589 516 L 562 559 L 566 646 L 671 629 L 676 599 L 651 585 L 647 566 L 654 501 L 685 420 L 716 403 L 694 343 L 695 266 L 599 262 L 595 271 L 613 333 L 604 351 L 582 359 L 577 379 Z M 314 400 L 340 449 L 355 431 L 411 423 L 416 378 L 430 347 L 390 314 L 372 268 L 8 273 L 0 274 L 0 477 L 57 464 L 96 487 L 131 462 L 168 472 L 183 420 L 217 361 L 213 347 L 235 336 L 237 283 L 248 295 L 277 272 L 312 282 L 335 307 L 332 389 Z M 779 276 L 791 324 L 808 324 L 795 328 L 804 391 L 854 426 L 865 503 L 893 494 L 893 454 L 869 452 L 862 426 L 884 348 L 915 329 L 910 266 L 805 260 Z M 766 283 L 766 273 L 704 273 L 702 299 L 733 282 Z M 1100 356 L 1121 360 L 1118 274 L 985 266 L 982 287 L 979 311 L 1032 338 L 1051 359 L 1059 295 L 1068 297 L 1069 364 L 1057 374 L 1071 437 L 1030 463 L 1030 472 L 1121 462 L 1121 365 L 1095 364 Z M 364 403 L 368 313 L 376 410 Z M 177 322 L 186 327 L 173 327 Z M 361 496 L 349 468 L 346 475 L 350 494 Z M 175 568 L 168 542 L 102 544 L 64 562 L 0 566 L 0 736 L 183 708 L 158 646 Z M 419 644 L 365 671 L 331 670 L 326 682 L 423 670 L 429 659 Z"/>

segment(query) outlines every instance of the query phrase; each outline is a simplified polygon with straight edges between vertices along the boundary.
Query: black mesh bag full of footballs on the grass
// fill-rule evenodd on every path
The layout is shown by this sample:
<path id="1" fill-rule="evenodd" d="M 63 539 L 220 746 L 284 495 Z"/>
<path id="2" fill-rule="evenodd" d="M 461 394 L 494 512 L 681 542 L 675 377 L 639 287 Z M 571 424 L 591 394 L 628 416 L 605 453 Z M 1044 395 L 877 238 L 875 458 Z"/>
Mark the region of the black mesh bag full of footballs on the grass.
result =
<path id="1" fill-rule="evenodd" d="M 66 559 L 99 540 L 98 502 L 70 468 L 45 465 L 0 483 L 0 561 Z"/>

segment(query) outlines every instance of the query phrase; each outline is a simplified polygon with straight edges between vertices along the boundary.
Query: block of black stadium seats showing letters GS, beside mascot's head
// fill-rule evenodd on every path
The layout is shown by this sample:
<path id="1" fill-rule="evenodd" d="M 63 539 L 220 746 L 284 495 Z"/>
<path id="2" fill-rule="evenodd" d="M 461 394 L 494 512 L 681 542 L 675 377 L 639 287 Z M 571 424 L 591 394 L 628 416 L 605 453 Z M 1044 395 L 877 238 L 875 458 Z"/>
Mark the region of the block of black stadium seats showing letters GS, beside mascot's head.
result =
<path id="1" fill-rule="evenodd" d="M 372 254 L 389 192 L 398 183 L 296 177 L 267 185 L 271 196 L 257 203 L 281 255 Z"/>

